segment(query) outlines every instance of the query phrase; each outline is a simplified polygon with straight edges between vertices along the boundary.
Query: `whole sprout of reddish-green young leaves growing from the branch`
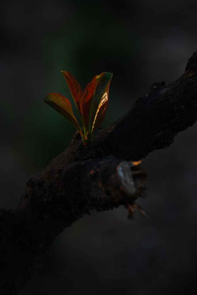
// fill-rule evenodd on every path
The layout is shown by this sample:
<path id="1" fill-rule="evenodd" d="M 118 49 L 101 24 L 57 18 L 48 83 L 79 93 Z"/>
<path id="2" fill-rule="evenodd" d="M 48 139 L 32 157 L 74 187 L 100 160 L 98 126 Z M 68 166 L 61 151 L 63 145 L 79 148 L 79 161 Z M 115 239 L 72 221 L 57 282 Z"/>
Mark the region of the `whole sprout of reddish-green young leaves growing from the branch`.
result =
<path id="1" fill-rule="evenodd" d="M 104 72 L 95 76 L 83 93 L 81 86 L 71 73 L 61 72 L 80 114 L 82 128 L 73 113 L 70 101 L 66 97 L 58 93 L 49 93 L 44 101 L 75 126 L 84 145 L 86 145 L 92 138 L 92 132 L 100 126 L 105 117 L 112 73 Z"/>

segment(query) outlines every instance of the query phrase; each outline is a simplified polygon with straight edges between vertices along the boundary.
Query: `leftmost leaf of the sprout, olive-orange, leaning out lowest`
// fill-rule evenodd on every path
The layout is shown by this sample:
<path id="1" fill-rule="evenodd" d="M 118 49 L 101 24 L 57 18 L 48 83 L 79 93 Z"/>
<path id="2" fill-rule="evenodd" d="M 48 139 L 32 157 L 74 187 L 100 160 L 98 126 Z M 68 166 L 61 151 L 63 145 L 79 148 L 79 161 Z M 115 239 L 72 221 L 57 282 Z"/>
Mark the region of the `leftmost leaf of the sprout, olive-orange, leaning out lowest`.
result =
<path id="1" fill-rule="evenodd" d="M 73 113 L 72 105 L 66 97 L 59 93 L 49 93 L 45 97 L 44 101 L 57 112 L 66 117 L 66 119 L 68 119 L 79 131 L 80 135 L 83 136 L 80 125 Z"/>

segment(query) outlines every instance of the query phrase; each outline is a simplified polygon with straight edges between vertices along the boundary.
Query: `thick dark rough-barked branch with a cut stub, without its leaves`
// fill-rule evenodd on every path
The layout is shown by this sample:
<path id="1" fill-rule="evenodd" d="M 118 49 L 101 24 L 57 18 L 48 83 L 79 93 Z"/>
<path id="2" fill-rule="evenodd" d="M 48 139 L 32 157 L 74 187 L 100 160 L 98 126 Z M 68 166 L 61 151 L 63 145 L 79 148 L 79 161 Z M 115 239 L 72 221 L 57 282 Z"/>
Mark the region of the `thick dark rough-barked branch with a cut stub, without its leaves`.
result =
<path id="1" fill-rule="evenodd" d="M 197 52 L 178 80 L 154 83 L 87 148 L 75 134 L 67 150 L 29 179 L 18 208 L 0 210 L 0 294 L 18 294 L 55 237 L 91 209 L 126 207 L 144 195 L 146 173 L 127 161 L 168 147 L 196 122 L 196 73 Z"/>

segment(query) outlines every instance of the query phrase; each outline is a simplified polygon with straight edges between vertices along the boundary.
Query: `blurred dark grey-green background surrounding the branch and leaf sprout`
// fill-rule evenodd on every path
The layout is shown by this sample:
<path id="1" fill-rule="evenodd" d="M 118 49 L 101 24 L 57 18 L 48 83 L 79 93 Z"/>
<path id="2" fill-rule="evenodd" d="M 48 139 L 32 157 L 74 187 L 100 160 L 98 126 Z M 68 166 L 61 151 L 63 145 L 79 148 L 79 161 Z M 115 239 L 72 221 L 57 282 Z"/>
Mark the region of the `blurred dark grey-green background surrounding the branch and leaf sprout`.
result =
<path id="1" fill-rule="evenodd" d="M 84 89 L 113 72 L 102 127 L 152 83 L 167 84 L 197 50 L 196 1 L 1 2 L 1 207 L 16 206 L 28 178 L 69 144 L 74 127 L 44 104 L 71 98 L 61 70 Z M 92 212 L 64 230 L 20 295 L 185 294 L 196 288 L 196 131 L 143 160 L 148 217 L 123 207 Z M 193 294 L 193 293 L 192 293 Z"/>

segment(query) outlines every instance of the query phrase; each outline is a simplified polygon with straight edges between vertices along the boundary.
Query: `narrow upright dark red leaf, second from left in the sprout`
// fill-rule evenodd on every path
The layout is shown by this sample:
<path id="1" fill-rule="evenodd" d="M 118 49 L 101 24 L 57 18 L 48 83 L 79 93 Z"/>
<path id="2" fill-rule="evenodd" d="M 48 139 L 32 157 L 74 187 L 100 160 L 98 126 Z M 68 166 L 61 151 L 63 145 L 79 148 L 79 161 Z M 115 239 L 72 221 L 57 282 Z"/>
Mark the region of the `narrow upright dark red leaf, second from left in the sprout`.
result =
<path id="1" fill-rule="evenodd" d="M 66 80 L 68 88 L 75 101 L 75 105 L 77 106 L 77 109 L 79 110 L 79 113 L 81 115 L 81 101 L 83 97 L 83 91 L 81 89 L 81 86 L 79 85 L 77 80 L 72 76 L 71 73 L 67 71 L 61 71 L 61 72 L 62 72 L 62 75 L 64 76 L 64 79 Z"/>

